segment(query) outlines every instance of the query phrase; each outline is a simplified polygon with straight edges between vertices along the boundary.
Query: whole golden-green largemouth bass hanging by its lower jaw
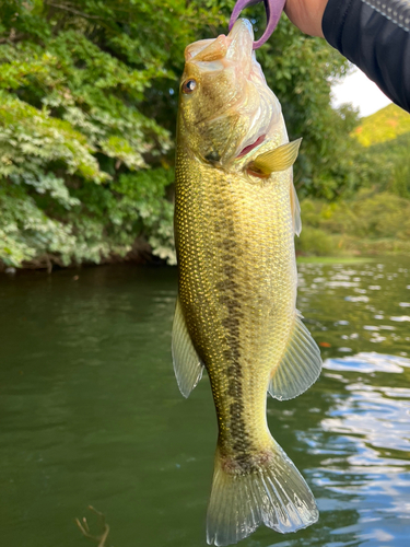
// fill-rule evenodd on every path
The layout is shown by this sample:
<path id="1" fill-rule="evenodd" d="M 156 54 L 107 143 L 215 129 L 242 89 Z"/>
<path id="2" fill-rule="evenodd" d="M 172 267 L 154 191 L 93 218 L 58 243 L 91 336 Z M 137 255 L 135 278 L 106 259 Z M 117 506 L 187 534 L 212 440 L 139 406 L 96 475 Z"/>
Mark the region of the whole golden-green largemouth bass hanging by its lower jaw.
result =
<path id="1" fill-rule="evenodd" d="M 219 435 L 207 542 L 216 546 L 260 524 L 288 533 L 318 520 L 267 423 L 268 392 L 296 397 L 321 360 L 296 310 L 301 141 L 289 142 L 253 43 L 239 19 L 227 35 L 189 45 L 177 118 L 172 357 L 185 397 L 203 370 L 210 379 Z"/>

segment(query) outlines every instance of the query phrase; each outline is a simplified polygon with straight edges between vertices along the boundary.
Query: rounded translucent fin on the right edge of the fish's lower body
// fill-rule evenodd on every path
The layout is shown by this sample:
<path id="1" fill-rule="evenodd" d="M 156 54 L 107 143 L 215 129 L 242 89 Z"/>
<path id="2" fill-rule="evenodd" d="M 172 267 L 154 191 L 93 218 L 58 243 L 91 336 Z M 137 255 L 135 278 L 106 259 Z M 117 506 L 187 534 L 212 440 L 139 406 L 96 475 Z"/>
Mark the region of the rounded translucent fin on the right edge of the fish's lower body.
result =
<path id="1" fill-rule="evenodd" d="M 279 400 L 292 399 L 305 392 L 320 374 L 320 351 L 296 311 L 285 352 L 272 371 L 268 391 Z"/>

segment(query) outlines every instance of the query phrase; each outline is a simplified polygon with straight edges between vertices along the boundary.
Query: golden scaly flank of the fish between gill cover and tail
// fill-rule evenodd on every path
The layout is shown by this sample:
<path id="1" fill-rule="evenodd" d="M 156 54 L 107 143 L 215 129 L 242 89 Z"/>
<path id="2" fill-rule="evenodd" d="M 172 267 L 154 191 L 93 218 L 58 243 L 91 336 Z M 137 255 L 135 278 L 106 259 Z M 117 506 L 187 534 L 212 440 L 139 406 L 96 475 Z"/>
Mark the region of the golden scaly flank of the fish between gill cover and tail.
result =
<path id="1" fill-rule="evenodd" d="M 290 181 L 233 181 L 222 170 L 199 172 L 195 163 L 178 154 L 179 298 L 213 393 L 224 394 L 215 400 L 223 452 L 243 457 L 244 449 L 237 454 L 237 434 L 247 437 L 249 451 L 260 451 L 259 439 L 270 440 L 266 392 L 278 359 L 271 349 L 283 352 L 293 318 Z M 232 380 L 241 389 L 232 388 Z M 232 405 L 238 411 L 232 412 Z"/>

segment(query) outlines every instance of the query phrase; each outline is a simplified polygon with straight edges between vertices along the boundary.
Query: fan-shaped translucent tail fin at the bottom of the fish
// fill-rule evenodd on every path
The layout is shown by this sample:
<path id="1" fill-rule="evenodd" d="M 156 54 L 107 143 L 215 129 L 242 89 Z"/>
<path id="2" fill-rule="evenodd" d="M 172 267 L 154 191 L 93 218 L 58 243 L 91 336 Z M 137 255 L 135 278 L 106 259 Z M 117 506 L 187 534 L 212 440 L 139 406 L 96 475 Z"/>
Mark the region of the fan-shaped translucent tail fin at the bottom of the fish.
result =
<path id="1" fill-rule="evenodd" d="M 318 520 L 309 487 L 279 444 L 272 442 L 268 457 L 263 454 L 258 464 L 241 472 L 224 465 L 216 450 L 207 515 L 209 545 L 236 544 L 262 523 L 285 534 Z"/>

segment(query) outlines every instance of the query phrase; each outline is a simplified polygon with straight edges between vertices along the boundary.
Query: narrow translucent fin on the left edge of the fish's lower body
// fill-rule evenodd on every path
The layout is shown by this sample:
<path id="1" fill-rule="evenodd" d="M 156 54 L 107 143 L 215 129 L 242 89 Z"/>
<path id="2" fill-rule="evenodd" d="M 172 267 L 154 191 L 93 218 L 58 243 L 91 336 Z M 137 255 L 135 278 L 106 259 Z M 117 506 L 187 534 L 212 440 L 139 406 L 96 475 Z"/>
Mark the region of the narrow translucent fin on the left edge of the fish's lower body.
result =
<path id="1" fill-rule="evenodd" d="M 176 301 L 174 316 L 172 354 L 179 391 L 184 397 L 188 397 L 202 377 L 203 363 L 190 339 L 179 296 Z"/>

